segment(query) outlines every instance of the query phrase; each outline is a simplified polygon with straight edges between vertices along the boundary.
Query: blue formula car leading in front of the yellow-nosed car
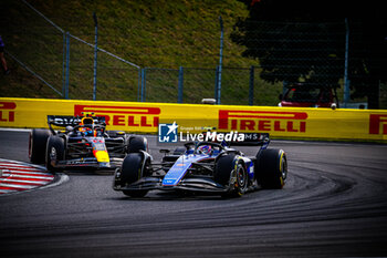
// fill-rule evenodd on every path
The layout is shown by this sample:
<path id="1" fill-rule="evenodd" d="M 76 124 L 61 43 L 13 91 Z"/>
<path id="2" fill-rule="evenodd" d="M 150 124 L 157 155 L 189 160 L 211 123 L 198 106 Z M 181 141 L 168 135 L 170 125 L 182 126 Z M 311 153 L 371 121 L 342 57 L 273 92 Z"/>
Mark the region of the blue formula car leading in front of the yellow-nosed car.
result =
<path id="1" fill-rule="evenodd" d="M 286 154 L 268 148 L 269 134 L 254 135 L 260 148 L 252 157 L 226 142 L 189 142 L 172 153 L 160 149 L 165 153 L 160 163 L 145 151 L 129 153 L 115 171 L 113 188 L 132 197 L 144 197 L 151 189 L 223 197 L 238 197 L 259 186 L 280 189 L 287 175 Z"/>

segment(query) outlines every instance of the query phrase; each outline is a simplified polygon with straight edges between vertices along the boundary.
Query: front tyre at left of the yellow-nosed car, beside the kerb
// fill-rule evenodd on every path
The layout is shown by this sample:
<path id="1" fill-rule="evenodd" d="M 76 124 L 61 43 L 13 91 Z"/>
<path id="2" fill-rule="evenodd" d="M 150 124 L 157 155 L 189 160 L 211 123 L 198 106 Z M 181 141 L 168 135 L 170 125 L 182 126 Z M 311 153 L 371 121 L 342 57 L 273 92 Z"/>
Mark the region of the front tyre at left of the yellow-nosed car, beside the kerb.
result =
<path id="1" fill-rule="evenodd" d="M 52 163 L 64 159 L 64 140 L 57 136 L 50 136 L 48 141 L 46 154 L 45 154 L 45 167 L 49 172 L 55 173 L 60 171 L 55 168 Z"/>

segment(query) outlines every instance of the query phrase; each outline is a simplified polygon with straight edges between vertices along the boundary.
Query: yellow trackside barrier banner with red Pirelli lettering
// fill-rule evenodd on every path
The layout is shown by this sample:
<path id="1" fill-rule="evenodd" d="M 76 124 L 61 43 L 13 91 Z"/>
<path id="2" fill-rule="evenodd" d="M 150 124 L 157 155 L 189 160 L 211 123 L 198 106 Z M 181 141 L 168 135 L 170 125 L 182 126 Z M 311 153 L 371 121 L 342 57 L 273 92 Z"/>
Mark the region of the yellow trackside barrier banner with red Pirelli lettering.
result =
<path id="1" fill-rule="evenodd" d="M 381 141 L 387 110 L 296 109 L 0 97 L 0 127 L 48 127 L 48 115 L 104 116 L 107 130 L 158 133 L 175 123 L 179 132 L 261 132 L 285 138 Z"/>

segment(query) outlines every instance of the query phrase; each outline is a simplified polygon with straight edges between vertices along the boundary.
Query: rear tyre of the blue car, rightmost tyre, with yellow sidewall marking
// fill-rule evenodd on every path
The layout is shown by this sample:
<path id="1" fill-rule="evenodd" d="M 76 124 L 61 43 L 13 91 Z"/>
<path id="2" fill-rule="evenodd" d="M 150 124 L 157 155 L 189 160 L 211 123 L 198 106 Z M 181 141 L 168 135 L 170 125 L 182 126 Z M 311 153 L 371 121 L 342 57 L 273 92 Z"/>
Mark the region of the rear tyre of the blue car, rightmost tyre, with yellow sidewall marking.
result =
<path id="1" fill-rule="evenodd" d="M 281 189 L 286 182 L 287 161 L 282 149 L 266 148 L 257 156 L 255 178 L 266 189 Z"/>

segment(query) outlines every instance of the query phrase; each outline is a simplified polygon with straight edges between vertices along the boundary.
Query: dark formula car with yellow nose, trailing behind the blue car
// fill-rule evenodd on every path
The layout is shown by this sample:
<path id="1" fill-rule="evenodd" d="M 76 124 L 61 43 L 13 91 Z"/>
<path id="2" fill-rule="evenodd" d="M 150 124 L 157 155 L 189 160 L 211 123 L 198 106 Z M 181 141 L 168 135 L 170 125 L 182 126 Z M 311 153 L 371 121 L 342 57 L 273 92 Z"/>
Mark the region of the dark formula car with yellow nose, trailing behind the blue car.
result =
<path id="1" fill-rule="evenodd" d="M 50 172 L 114 169 L 126 154 L 147 149 L 145 137 L 106 131 L 104 117 L 49 115 L 48 124 L 50 130 L 31 131 L 29 156 L 31 163 L 45 164 Z"/>

